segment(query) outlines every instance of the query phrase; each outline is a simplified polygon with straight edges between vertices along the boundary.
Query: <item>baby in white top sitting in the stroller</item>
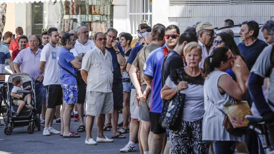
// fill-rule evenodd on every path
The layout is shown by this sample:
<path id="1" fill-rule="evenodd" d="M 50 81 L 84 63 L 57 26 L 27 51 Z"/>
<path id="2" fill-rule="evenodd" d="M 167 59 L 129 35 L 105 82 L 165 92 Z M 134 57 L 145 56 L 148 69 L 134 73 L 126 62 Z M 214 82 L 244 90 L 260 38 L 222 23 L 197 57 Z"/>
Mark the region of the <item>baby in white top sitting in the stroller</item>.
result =
<path id="1" fill-rule="evenodd" d="M 13 117 L 17 117 L 24 106 L 30 110 L 33 109 L 33 106 L 31 105 L 31 95 L 27 94 L 26 96 L 24 96 L 23 93 L 17 93 L 17 91 L 30 89 L 31 86 L 26 86 L 25 88 L 23 88 L 23 80 L 19 76 L 12 79 L 12 84 L 12 104 L 19 106 L 17 112 L 13 115 Z"/>

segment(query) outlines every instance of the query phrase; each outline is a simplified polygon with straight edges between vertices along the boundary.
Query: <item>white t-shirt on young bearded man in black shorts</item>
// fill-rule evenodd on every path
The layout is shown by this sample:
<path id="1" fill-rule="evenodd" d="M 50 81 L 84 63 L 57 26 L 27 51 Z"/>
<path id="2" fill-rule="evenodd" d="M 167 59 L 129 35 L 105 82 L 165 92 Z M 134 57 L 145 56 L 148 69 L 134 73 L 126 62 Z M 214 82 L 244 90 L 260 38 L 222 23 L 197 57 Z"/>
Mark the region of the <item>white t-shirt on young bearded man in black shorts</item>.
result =
<path id="1" fill-rule="evenodd" d="M 57 57 L 59 50 L 58 46 L 52 47 L 49 43 L 44 46 L 41 52 L 40 62 L 46 62 L 45 64 L 45 77 L 43 85 L 60 85 L 60 71 L 59 64 L 57 63 Z"/>

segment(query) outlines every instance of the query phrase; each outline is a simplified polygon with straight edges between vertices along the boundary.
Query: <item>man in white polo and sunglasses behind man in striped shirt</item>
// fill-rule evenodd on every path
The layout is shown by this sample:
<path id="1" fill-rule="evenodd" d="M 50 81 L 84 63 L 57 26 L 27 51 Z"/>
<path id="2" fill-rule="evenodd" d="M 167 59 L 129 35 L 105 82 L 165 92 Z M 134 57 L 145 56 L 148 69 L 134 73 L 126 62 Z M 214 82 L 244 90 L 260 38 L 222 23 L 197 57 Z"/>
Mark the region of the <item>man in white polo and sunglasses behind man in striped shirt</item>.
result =
<path id="1" fill-rule="evenodd" d="M 71 32 L 73 33 L 73 31 Z M 74 48 L 70 50 L 73 53 L 73 56 L 76 60 L 82 63 L 82 59 L 87 51 L 93 49 L 95 47 L 94 41 L 88 40 L 88 30 L 86 26 L 79 26 L 77 28 L 77 36 L 78 39 L 75 41 Z M 74 36 L 75 38 L 75 36 Z M 78 132 L 85 131 L 84 124 L 84 103 L 86 98 L 86 87 L 87 84 L 84 82 L 81 76 L 81 70 L 77 71 L 76 77 L 78 82 L 78 103 L 77 103 L 77 111 L 74 113 L 74 121 L 80 121 L 80 126 L 77 129 Z M 77 112 L 77 113 L 76 113 Z"/>

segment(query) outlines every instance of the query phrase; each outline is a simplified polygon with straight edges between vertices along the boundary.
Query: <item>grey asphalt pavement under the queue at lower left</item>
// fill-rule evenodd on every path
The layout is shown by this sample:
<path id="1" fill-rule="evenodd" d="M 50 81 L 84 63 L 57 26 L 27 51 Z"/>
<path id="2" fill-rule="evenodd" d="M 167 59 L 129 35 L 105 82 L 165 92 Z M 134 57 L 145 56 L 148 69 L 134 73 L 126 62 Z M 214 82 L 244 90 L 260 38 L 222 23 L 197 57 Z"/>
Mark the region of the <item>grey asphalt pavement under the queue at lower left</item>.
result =
<path id="1" fill-rule="evenodd" d="M 85 117 L 84 117 L 85 118 Z M 85 120 L 85 119 L 84 119 Z M 119 122 L 122 121 L 122 114 L 119 114 Z M 1 122 L 3 119 L 1 117 Z M 71 130 L 77 132 L 80 122 L 71 120 Z M 61 130 L 61 124 L 56 124 L 54 120 L 53 127 Z M 112 130 L 112 128 L 111 128 Z M 124 139 L 114 139 L 111 143 L 97 143 L 97 145 L 85 145 L 86 132 L 78 133 L 80 138 L 62 138 L 59 134 L 52 134 L 50 136 L 43 136 L 43 129 L 37 131 L 35 129 L 33 134 L 27 133 L 24 127 L 14 128 L 11 135 L 4 134 L 4 127 L 0 127 L 0 154 L 2 153 L 21 153 L 21 154 L 43 154 L 43 153 L 91 153 L 91 154 L 118 154 L 119 150 L 125 146 L 129 141 L 129 133 L 123 134 Z M 111 138 L 112 131 L 104 131 L 104 135 Z M 96 141 L 97 127 L 96 123 L 93 125 L 92 138 Z M 136 152 L 130 154 L 137 154 L 139 152 L 139 145 Z"/>

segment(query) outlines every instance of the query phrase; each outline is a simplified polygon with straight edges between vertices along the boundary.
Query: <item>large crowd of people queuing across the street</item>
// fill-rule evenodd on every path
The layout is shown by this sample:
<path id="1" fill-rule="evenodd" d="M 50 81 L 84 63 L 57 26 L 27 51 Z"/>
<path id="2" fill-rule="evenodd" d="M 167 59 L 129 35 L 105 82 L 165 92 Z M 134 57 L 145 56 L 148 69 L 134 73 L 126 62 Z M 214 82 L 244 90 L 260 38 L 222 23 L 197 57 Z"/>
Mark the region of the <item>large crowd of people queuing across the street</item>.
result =
<path id="1" fill-rule="evenodd" d="M 232 20 L 224 21 L 224 26 L 230 25 Z M 6 67 L 31 75 L 37 112 L 44 120 L 43 136 L 80 137 L 70 129 L 74 113 L 74 120 L 80 121 L 77 131 L 86 131 L 86 145 L 113 142 L 129 133 L 120 152 L 136 151 L 136 142 L 144 154 L 263 152 L 254 131 L 236 136 L 225 129 L 224 105 L 246 100 L 265 122 L 274 121 L 274 21 L 261 29 L 256 21 L 244 21 L 240 44 L 232 30 L 215 34 L 215 29 L 210 22 L 198 22 L 180 34 L 176 25 L 151 28 L 144 21 L 133 39 L 114 28 L 89 36 L 85 26 L 68 33 L 51 27 L 39 41 L 17 27 L 17 38 L 12 39 L 11 32 L 4 34 L 0 72 Z M 260 30 L 265 40 L 257 38 Z M 4 82 L 3 77 L 0 80 Z M 15 93 L 23 89 L 21 78 L 12 83 Z M 31 109 L 29 97 L 15 93 L 12 96 L 21 99 L 13 104 L 20 110 Z M 168 130 L 160 120 L 163 106 L 179 93 L 185 95 L 180 121 L 176 129 Z M 54 117 L 61 123 L 60 131 L 52 127 Z M 96 140 L 92 138 L 95 117 Z M 111 128 L 108 138 L 104 131 Z"/>

